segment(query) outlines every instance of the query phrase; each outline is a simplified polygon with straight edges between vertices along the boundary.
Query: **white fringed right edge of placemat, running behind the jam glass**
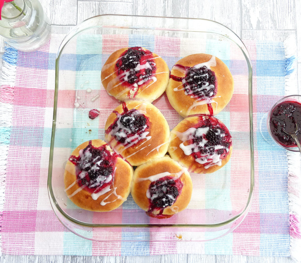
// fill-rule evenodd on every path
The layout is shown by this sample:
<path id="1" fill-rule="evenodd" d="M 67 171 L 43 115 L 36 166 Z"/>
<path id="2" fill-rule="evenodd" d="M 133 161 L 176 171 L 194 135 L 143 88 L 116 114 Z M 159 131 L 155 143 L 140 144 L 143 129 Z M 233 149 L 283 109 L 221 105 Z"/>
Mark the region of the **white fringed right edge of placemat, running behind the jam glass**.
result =
<path id="1" fill-rule="evenodd" d="M 285 94 L 295 95 L 297 84 L 297 46 L 294 35 L 284 41 L 286 58 Z M 287 151 L 288 161 L 288 202 L 290 213 L 290 255 L 301 261 L 301 157 L 299 152 Z"/>

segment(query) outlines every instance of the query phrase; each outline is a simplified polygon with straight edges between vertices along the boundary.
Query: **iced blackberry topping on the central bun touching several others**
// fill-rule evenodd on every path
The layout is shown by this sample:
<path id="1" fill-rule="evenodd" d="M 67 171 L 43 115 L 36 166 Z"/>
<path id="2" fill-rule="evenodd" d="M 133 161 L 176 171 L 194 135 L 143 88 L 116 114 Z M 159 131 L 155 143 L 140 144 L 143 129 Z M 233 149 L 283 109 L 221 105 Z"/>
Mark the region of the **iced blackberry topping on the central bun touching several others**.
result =
<path id="1" fill-rule="evenodd" d="M 147 138 L 149 120 L 139 110 L 128 110 L 124 107 L 124 112 L 122 114 L 116 112 L 116 115 L 116 120 L 110 125 L 106 133 L 111 133 L 118 142 L 123 145 L 134 145 Z"/>

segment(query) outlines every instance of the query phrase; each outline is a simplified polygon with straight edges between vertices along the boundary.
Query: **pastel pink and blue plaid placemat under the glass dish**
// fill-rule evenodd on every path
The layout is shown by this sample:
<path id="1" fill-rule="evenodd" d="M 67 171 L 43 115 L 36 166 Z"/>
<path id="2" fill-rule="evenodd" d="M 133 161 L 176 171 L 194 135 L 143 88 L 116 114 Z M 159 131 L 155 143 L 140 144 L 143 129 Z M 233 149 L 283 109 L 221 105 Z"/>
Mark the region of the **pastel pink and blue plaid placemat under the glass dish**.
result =
<path id="1" fill-rule="evenodd" d="M 206 253 L 290 256 L 300 238 L 298 216 L 289 212 L 288 157 L 261 130 L 274 103 L 287 95 L 290 60 L 284 43 L 244 41 L 253 65 L 255 189 L 244 221 L 207 242 L 95 242 L 68 231 L 54 215 L 47 192 L 54 99 L 55 55 L 62 35 L 42 49 L 5 50 L 1 78 L 1 249 L 6 254 L 150 255 Z M 163 40 L 161 40 L 163 41 Z M 131 46 L 129 40 L 124 46 Z M 154 41 L 160 45 L 160 41 Z M 142 46 L 142 44 L 141 44 Z M 152 50 L 151 47 L 148 47 Z M 72 67 L 73 65 L 66 65 Z M 80 248 L 80 249 L 79 249 Z"/>

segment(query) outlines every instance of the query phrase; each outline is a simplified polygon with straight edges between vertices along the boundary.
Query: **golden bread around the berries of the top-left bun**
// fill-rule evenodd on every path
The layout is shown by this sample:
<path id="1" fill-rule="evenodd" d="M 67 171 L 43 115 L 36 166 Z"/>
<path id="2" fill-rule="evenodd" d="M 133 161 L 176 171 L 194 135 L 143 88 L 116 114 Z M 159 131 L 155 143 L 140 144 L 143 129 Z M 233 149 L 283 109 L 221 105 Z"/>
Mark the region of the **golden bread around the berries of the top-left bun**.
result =
<path id="1" fill-rule="evenodd" d="M 141 48 L 149 51 L 143 47 Z M 166 90 L 169 81 L 169 68 L 161 57 L 152 53 L 155 59 L 151 59 L 151 61 L 156 63 L 156 72 L 154 77 L 157 80 L 150 80 L 138 85 L 138 90 L 137 88 L 134 89 L 133 84 L 131 85 L 127 81 L 121 84 L 123 81 L 121 81 L 118 77 L 118 68 L 116 63 L 128 49 L 129 47 L 124 47 L 110 55 L 101 69 L 101 82 L 107 90 L 107 93 L 114 96 L 116 99 L 122 101 L 127 99 L 141 99 L 152 102 L 159 98 Z M 134 89 L 134 91 L 132 90 L 130 92 L 131 89 Z M 137 90 L 136 93 L 135 90 Z"/>

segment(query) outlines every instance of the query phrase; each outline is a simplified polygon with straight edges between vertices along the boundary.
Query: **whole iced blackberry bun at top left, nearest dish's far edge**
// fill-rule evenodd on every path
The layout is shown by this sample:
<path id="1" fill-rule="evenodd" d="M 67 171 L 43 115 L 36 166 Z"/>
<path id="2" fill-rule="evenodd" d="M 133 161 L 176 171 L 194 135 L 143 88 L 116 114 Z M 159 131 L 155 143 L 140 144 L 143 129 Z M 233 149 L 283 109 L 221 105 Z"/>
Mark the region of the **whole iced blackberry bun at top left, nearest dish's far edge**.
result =
<path id="1" fill-rule="evenodd" d="M 169 68 L 157 54 L 143 47 L 124 47 L 107 59 L 101 69 L 101 82 L 116 99 L 152 102 L 166 90 Z"/>

